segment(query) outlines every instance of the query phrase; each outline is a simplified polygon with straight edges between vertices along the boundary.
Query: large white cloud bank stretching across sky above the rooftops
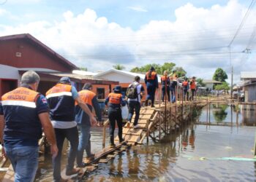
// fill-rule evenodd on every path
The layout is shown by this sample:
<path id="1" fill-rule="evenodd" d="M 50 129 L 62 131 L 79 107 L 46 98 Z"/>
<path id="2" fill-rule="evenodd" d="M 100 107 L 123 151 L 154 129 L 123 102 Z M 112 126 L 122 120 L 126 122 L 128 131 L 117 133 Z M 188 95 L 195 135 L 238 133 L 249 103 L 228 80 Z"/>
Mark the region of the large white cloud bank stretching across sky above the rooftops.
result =
<path id="1" fill-rule="evenodd" d="M 138 31 L 98 17 L 92 9 L 80 15 L 64 12 L 62 21 L 37 21 L 6 26 L 0 23 L 0 36 L 31 33 L 37 39 L 77 66 L 89 71 L 107 70 L 116 63 L 127 70 L 148 63 L 173 62 L 188 76 L 211 79 L 216 68 L 230 74 L 230 43 L 247 7 L 231 0 L 226 6 L 197 8 L 185 4 L 176 9 L 176 20 L 152 20 Z M 256 23 L 251 12 L 231 47 L 235 79 L 240 71 L 256 69 L 255 54 L 241 53 L 249 42 Z M 255 48 L 255 41 L 252 50 Z M 215 48 L 214 48 L 215 47 Z M 229 76 L 230 77 L 230 76 Z"/>

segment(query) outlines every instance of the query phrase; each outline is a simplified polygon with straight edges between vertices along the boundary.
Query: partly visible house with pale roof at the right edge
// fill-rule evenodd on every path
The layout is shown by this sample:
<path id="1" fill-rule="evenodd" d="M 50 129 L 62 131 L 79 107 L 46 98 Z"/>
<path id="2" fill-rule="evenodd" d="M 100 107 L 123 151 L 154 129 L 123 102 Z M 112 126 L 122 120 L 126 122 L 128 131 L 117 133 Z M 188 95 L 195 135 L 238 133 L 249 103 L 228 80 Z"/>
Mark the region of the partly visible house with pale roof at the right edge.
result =
<path id="1" fill-rule="evenodd" d="M 244 101 L 256 101 L 256 71 L 242 71 L 240 84 L 244 91 Z"/>

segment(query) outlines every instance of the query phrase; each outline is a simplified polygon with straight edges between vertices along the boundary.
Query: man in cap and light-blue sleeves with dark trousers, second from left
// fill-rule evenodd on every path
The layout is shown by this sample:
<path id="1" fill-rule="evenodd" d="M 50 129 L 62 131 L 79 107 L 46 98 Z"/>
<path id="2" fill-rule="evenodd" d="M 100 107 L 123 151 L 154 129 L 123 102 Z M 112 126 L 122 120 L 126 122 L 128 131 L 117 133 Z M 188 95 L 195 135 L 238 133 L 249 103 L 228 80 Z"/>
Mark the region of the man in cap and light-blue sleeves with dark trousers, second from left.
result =
<path id="1" fill-rule="evenodd" d="M 91 124 L 96 121 L 88 106 L 83 103 L 75 87 L 72 87 L 69 77 L 62 77 L 59 82 L 46 92 L 50 107 L 50 119 L 53 124 L 59 153 L 53 159 L 53 180 L 67 181 L 61 178 L 61 151 L 64 139 L 70 143 L 67 159 L 66 175 L 74 175 L 79 168 L 74 168 L 75 157 L 78 151 L 78 126 L 75 122 L 75 101 L 89 115 Z"/>

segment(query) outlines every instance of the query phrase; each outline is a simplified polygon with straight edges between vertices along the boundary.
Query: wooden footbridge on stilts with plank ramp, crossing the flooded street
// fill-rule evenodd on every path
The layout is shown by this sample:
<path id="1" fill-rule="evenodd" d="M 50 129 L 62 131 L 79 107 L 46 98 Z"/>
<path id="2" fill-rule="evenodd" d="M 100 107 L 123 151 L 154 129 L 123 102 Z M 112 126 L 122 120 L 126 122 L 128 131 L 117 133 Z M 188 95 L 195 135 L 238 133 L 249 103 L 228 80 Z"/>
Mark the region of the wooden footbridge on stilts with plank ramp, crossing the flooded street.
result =
<path id="1" fill-rule="evenodd" d="M 223 98 L 219 100 L 223 101 Z M 105 133 L 106 127 L 108 127 L 107 120 L 104 123 L 102 131 L 102 151 L 99 151 L 92 160 L 85 158 L 84 162 L 86 163 L 86 167 L 81 168 L 78 175 L 71 177 L 65 176 L 64 171 L 61 175 L 64 178 L 69 179 L 69 181 L 80 180 L 83 179 L 83 177 L 85 177 L 91 171 L 96 170 L 99 162 L 107 163 L 110 159 L 116 157 L 118 153 L 126 151 L 133 145 L 143 144 L 145 141 L 148 143 L 149 138 L 154 142 L 161 142 L 165 135 L 170 135 L 173 131 L 181 128 L 183 124 L 187 124 L 187 122 L 192 121 L 194 112 L 199 110 L 199 108 L 203 108 L 203 106 L 206 106 L 206 104 L 209 102 L 215 101 L 208 100 L 208 98 L 186 102 L 183 100 L 178 100 L 176 103 L 167 103 L 165 101 L 165 103 L 159 103 L 155 105 L 154 108 L 148 106 L 142 107 L 140 109 L 140 118 L 138 121 L 139 127 L 136 129 L 133 127 L 135 114 L 132 117 L 132 123 L 130 126 L 128 127 L 127 124 L 125 124 L 123 127 L 123 138 L 127 145 L 123 145 L 124 143 L 119 143 L 118 137 L 116 137 L 116 147 L 114 148 L 105 147 Z M 44 141 L 45 139 L 42 139 L 40 145 L 44 146 Z M 6 161 L 2 163 L 7 164 Z M 1 169 L 7 170 L 4 165 L 1 166 Z M 6 175 L 4 175 L 3 181 L 13 181 L 13 176 L 14 173 L 10 165 Z"/>

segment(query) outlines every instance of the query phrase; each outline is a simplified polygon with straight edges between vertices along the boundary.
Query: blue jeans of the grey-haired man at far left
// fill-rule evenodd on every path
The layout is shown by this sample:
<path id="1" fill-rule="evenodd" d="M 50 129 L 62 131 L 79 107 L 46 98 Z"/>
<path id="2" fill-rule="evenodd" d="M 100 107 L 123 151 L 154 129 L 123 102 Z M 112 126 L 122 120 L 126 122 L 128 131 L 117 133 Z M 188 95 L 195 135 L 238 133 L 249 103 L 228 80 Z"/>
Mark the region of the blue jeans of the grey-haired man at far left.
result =
<path id="1" fill-rule="evenodd" d="M 38 146 L 4 146 L 15 171 L 15 182 L 34 181 L 38 167 Z"/>

